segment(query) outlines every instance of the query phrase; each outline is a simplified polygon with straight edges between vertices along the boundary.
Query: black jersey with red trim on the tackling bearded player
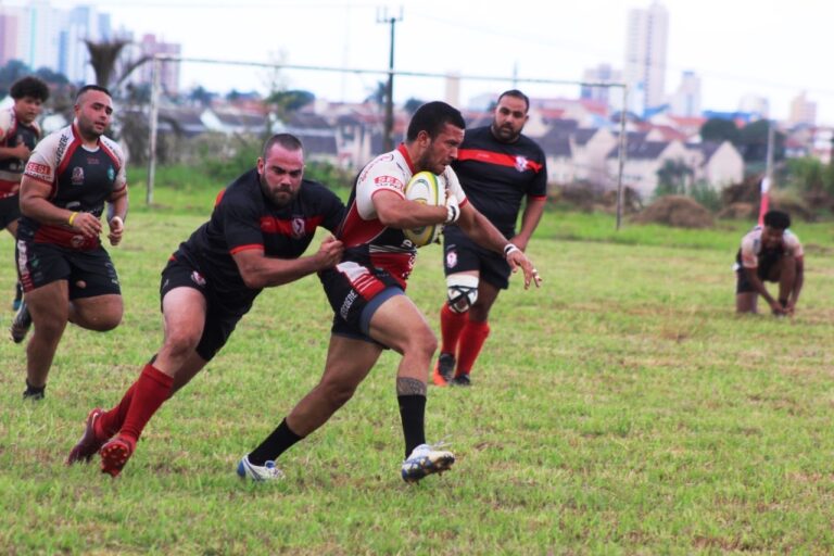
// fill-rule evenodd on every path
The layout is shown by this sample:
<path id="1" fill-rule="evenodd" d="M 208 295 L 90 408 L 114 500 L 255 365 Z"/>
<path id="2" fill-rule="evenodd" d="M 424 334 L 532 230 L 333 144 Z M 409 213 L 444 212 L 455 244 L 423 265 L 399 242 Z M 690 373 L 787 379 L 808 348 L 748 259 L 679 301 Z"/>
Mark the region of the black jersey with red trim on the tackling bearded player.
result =
<path id="1" fill-rule="evenodd" d="M 343 214 L 344 205 L 332 191 L 307 179 L 290 204 L 277 207 L 264 195 L 252 169 L 217 195 L 210 220 L 173 257 L 205 276 L 219 295 L 251 301 L 261 290 L 245 286 L 232 254 L 257 249 L 266 256 L 298 258 L 317 227 L 336 233 Z"/>

